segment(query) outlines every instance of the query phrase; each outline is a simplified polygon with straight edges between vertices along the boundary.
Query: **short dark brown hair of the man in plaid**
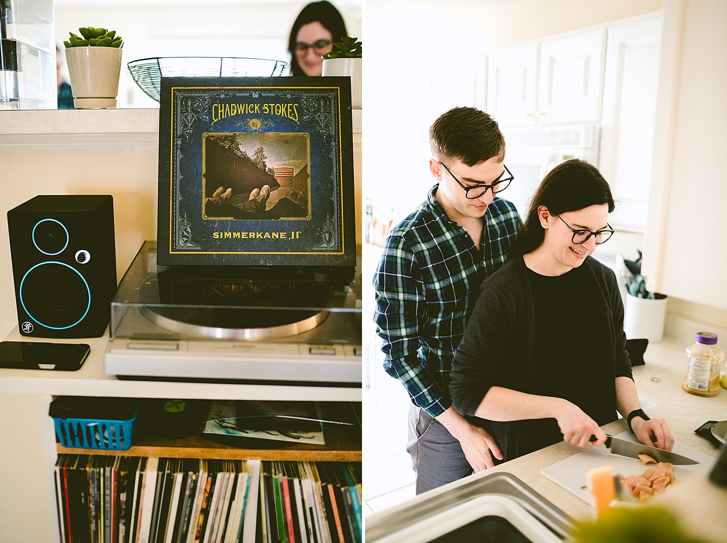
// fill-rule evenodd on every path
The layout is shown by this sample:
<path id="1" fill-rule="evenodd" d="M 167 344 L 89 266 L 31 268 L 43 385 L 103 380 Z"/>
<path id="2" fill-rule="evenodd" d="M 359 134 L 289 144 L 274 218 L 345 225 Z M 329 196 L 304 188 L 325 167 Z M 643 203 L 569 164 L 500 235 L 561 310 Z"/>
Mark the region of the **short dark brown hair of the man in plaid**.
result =
<path id="1" fill-rule="evenodd" d="M 497 121 L 477 108 L 453 108 L 429 129 L 429 146 L 438 161 L 455 158 L 475 166 L 490 158 L 505 160 L 505 137 Z"/>

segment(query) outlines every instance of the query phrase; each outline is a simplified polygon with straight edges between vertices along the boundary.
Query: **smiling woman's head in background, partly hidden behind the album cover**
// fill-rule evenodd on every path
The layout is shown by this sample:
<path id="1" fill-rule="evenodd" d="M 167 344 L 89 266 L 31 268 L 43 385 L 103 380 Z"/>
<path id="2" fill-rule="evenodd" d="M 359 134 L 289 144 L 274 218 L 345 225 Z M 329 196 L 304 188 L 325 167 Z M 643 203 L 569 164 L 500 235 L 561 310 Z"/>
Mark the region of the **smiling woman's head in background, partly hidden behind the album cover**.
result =
<path id="1" fill-rule="evenodd" d="M 293 23 L 288 39 L 291 76 L 320 76 L 323 59 L 331 52 L 335 41 L 341 41 L 346 23 L 338 10 L 328 1 L 311 2 Z"/>

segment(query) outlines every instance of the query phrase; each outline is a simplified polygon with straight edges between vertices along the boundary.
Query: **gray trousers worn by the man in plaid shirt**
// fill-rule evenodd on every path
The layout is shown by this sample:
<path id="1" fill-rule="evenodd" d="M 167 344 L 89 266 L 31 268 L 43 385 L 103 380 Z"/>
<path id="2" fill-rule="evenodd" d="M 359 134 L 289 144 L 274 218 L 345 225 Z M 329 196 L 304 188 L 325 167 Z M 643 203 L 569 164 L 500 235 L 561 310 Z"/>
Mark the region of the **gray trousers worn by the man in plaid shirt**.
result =
<path id="1" fill-rule="evenodd" d="M 473 472 L 459 441 L 427 411 L 409 404 L 406 452 L 417 475 L 417 494 L 459 480 Z"/>

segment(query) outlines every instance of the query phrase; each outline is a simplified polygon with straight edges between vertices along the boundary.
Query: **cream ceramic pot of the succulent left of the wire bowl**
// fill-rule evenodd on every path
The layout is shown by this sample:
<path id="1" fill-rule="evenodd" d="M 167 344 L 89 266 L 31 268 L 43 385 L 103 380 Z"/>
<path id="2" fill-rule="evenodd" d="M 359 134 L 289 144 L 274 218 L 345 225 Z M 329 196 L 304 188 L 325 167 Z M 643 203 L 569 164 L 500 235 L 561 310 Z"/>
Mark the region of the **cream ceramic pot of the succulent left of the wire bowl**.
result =
<path id="1" fill-rule="evenodd" d="M 116 108 L 121 49 L 66 47 L 65 62 L 76 108 Z"/>

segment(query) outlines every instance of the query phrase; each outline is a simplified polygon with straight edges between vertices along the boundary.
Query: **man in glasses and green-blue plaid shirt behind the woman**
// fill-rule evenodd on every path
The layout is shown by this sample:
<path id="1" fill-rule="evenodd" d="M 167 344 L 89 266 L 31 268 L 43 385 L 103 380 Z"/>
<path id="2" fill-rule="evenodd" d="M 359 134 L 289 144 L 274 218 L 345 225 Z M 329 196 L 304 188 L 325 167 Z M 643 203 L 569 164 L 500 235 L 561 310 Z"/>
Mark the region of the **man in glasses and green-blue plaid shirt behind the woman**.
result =
<path id="1" fill-rule="evenodd" d="M 507 260 L 520 225 L 495 196 L 513 176 L 497 122 L 475 108 L 443 113 L 429 130 L 437 184 L 391 230 L 374 275 L 384 368 L 411 397 L 407 451 L 417 494 L 494 466 L 497 443 L 454 411 L 449 374 L 480 283 Z"/>

